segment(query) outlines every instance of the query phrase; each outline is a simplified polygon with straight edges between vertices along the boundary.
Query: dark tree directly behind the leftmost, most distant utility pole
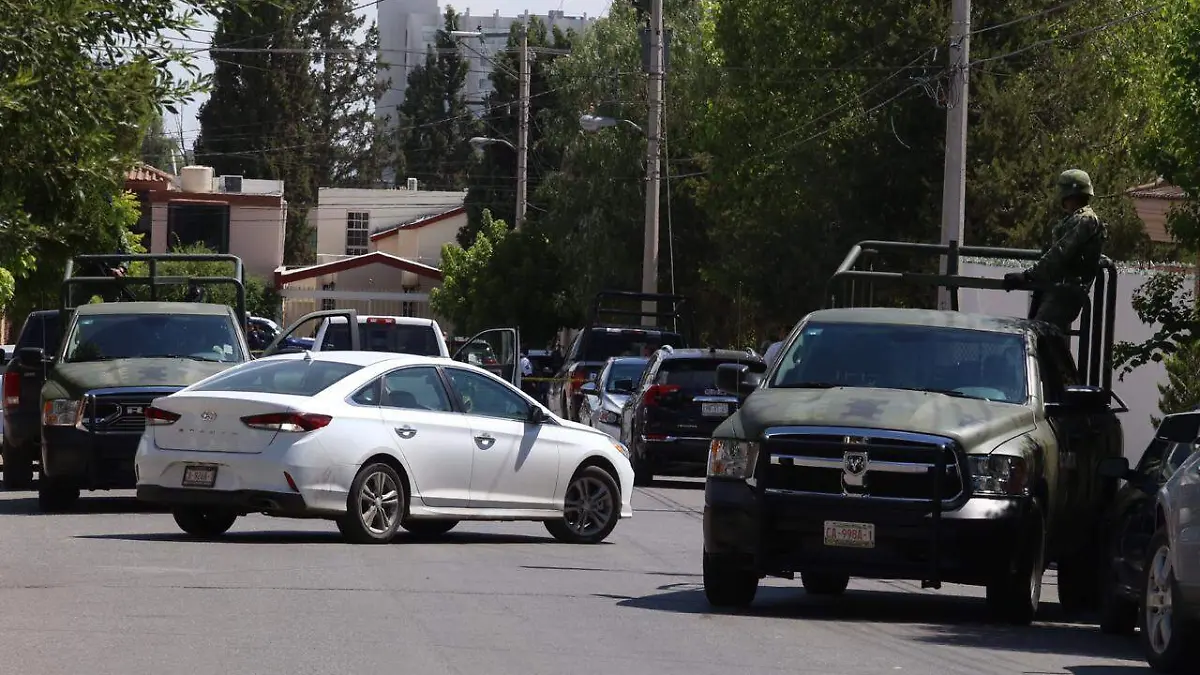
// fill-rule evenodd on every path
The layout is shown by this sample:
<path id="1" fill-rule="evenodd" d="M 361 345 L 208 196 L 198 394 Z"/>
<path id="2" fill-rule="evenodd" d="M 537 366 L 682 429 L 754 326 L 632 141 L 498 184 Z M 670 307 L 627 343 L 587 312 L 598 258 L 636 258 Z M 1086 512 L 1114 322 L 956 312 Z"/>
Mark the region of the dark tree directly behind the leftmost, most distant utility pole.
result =
<path id="1" fill-rule="evenodd" d="M 616 7 L 614 7 L 616 10 Z M 520 125 L 520 88 L 518 78 L 521 71 L 521 30 L 520 24 L 512 24 L 509 31 L 509 40 L 502 54 L 492 56 L 493 68 L 488 76 L 492 80 L 492 91 L 484 100 L 482 130 L 484 136 L 508 141 L 514 147 L 517 144 Z M 538 17 L 529 18 L 528 43 L 530 54 L 529 61 L 529 161 L 527 162 L 529 199 L 534 199 L 534 192 L 541 184 L 544 177 L 563 162 L 564 144 L 560 139 L 547 138 L 551 125 L 556 119 L 571 117 L 571 112 L 565 112 L 563 106 L 565 98 L 558 84 L 551 83 L 551 71 L 554 64 L 564 58 L 558 52 L 571 49 L 577 38 L 574 31 L 563 32 L 558 28 L 547 29 L 546 23 Z M 611 66 L 602 65 L 599 71 L 605 72 Z M 590 76 L 595 79 L 595 76 Z M 608 80 L 607 77 L 601 77 Z M 572 124 L 578 131 L 578 115 L 582 110 L 572 110 Z M 565 113 L 565 115 L 564 115 Z M 467 227 L 458 233 L 458 243 L 469 246 L 475 232 L 482 226 L 482 214 L 488 210 L 497 214 L 509 223 L 516 222 L 516 186 L 517 186 L 517 156 L 512 148 L 504 144 L 491 144 L 482 151 L 479 161 L 470 166 L 470 175 L 467 183 Z M 529 214 L 534 213 L 529 209 Z"/>

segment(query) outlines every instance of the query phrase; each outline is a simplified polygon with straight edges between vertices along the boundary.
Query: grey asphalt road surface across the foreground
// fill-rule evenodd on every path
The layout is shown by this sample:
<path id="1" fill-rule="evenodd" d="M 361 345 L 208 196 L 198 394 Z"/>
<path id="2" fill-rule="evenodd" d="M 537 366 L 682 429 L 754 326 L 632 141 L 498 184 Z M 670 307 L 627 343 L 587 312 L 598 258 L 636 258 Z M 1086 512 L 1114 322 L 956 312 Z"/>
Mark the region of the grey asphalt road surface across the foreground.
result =
<path id="1" fill-rule="evenodd" d="M 902 583 L 820 599 L 769 581 L 752 611 L 710 613 L 702 502 L 697 484 L 640 490 L 599 546 L 538 524 L 350 546 L 323 521 L 250 516 L 199 543 L 130 497 L 41 515 L 0 492 L 0 674 L 1148 673 L 1132 640 L 1054 622 L 1052 577 L 1030 628 Z"/>

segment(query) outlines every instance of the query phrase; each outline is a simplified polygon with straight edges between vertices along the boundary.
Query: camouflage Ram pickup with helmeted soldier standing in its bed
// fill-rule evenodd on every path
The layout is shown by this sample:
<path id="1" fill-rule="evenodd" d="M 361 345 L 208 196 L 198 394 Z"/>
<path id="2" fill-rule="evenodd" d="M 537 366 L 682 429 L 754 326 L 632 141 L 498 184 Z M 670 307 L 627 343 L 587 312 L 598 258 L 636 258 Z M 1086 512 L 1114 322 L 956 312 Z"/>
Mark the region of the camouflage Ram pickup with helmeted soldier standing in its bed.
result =
<path id="1" fill-rule="evenodd" d="M 950 273 L 854 270 L 864 249 L 949 255 Z M 1002 619 L 1033 620 L 1042 575 L 1058 566 L 1068 611 L 1098 604 L 1104 514 L 1121 458 L 1111 390 L 1116 269 L 1100 262 L 1079 366 L 1054 327 L 956 311 L 956 253 L 1037 251 L 869 241 L 834 281 L 942 286 L 950 310 L 851 306 L 812 312 L 764 376 L 722 365 L 716 387 L 749 392 L 713 434 L 704 492 L 704 591 L 752 602 L 762 577 L 800 574 L 810 593 L 851 577 L 986 587 Z M 836 286 L 836 285 L 833 285 Z M 830 297 L 832 294 L 827 294 Z M 835 294 L 833 294 L 836 298 Z"/>

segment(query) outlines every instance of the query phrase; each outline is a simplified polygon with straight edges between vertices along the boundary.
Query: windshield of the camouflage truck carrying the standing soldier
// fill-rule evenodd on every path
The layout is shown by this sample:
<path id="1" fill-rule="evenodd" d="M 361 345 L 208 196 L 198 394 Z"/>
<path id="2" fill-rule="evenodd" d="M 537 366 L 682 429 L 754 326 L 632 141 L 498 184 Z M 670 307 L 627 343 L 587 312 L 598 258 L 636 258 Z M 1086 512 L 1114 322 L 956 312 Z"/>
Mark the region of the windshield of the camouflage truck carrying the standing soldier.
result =
<path id="1" fill-rule="evenodd" d="M 1027 398 L 1025 338 L 961 328 L 809 323 L 773 388 L 913 389 L 1004 402 Z"/>

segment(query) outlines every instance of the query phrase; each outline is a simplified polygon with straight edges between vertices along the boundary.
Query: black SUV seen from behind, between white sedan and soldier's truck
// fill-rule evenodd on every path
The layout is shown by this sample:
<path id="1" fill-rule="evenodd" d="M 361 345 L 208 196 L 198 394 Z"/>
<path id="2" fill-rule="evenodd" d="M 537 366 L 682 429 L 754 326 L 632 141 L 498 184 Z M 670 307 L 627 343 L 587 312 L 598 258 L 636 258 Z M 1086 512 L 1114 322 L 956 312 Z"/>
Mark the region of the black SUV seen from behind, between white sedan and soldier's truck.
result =
<path id="1" fill-rule="evenodd" d="M 767 370 L 752 352 L 662 347 L 636 384 L 614 383 L 632 392 L 620 413 L 620 438 L 632 455 L 636 485 L 648 485 L 655 473 L 703 476 L 713 431 L 745 400 L 714 384 L 722 364 Z"/>

